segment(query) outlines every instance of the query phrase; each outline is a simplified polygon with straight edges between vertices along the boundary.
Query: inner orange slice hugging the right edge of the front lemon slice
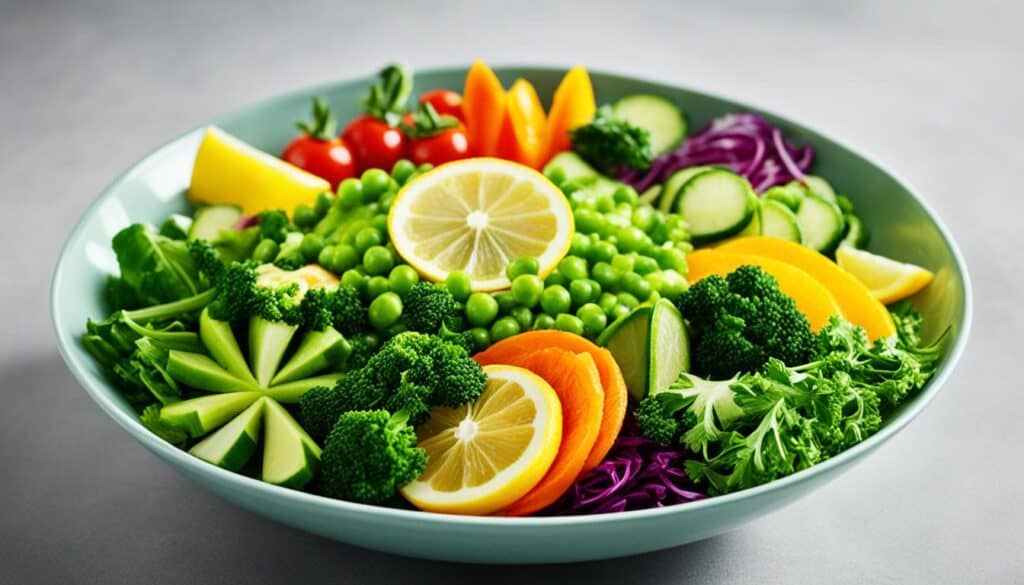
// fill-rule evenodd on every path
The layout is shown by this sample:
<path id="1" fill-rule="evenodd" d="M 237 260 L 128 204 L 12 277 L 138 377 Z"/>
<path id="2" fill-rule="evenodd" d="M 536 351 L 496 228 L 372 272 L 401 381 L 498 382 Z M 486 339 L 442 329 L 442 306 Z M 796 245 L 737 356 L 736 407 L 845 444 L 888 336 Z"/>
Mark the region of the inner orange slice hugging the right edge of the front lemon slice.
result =
<path id="1" fill-rule="evenodd" d="M 488 365 L 480 356 L 475 360 Z M 600 432 L 603 396 L 601 377 L 589 353 L 550 347 L 511 361 L 508 365 L 525 368 L 551 384 L 562 406 L 562 443 L 555 461 L 532 490 L 502 511 L 524 516 L 555 503 L 583 472 Z"/>

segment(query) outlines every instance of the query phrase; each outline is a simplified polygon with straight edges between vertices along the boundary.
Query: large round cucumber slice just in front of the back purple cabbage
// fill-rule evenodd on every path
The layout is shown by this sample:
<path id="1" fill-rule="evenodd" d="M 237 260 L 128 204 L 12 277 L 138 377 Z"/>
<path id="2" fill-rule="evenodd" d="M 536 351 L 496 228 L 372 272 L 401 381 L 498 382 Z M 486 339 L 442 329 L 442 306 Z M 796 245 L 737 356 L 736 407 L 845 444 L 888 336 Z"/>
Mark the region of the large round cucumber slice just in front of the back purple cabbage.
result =
<path id="1" fill-rule="evenodd" d="M 725 169 L 713 169 L 692 177 L 679 190 L 676 212 L 690 225 L 696 244 L 734 236 L 754 217 L 757 195 L 751 183 Z"/>

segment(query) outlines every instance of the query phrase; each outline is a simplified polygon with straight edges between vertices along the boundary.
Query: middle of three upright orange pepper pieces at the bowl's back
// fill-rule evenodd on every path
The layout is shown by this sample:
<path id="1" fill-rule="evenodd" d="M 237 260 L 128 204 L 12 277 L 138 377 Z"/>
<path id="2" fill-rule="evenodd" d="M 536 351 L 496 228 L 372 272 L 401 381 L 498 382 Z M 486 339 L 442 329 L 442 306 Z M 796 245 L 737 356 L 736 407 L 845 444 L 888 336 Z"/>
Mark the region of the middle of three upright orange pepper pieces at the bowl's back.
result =
<path id="1" fill-rule="evenodd" d="M 517 79 L 507 94 L 498 156 L 540 168 L 547 156 L 547 125 L 544 106 L 534 84 Z"/>

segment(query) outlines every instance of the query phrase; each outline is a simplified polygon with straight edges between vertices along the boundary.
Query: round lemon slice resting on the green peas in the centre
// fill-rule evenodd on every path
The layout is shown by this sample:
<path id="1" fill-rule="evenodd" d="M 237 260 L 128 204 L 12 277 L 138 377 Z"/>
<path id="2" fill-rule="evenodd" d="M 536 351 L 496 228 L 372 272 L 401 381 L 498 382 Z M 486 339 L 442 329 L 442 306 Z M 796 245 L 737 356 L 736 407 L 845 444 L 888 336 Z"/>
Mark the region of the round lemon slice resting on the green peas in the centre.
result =
<path id="1" fill-rule="evenodd" d="M 505 267 L 534 256 L 547 276 L 568 252 L 572 210 L 536 170 L 500 159 L 441 165 L 410 182 L 391 204 L 388 236 L 424 278 L 464 270 L 474 291 L 509 287 Z"/>

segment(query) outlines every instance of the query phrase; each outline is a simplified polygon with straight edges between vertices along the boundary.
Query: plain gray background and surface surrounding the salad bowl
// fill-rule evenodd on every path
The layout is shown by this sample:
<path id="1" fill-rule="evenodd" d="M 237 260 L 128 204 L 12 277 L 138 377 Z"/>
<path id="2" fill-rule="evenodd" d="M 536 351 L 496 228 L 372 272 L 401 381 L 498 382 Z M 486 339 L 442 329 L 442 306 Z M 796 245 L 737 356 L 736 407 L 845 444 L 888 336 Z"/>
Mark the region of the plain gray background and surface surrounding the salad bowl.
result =
<path id="1" fill-rule="evenodd" d="M 179 4 L 0 0 L 0 582 L 1024 581 L 1021 3 Z M 691 84 L 873 153 L 967 255 L 977 319 L 958 371 L 886 449 L 784 511 L 627 560 L 518 569 L 392 557 L 264 520 L 171 471 L 75 384 L 48 324 L 50 270 L 117 173 L 281 91 L 476 56 Z"/>

